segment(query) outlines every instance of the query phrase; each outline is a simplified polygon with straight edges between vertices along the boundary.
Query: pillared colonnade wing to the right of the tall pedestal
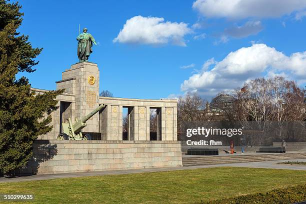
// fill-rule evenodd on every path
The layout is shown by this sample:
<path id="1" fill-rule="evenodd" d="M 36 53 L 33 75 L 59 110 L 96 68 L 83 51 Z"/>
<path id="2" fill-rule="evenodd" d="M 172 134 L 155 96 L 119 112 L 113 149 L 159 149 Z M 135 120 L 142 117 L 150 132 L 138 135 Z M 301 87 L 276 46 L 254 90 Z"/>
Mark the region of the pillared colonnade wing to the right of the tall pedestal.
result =
<path id="1" fill-rule="evenodd" d="M 103 140 L 122 140 L 122 108 L 128 109 L 128 140 L 150 140 L 150 108 L 157 110 L 156 140 L 177 140 L 177 107 L 173 99 L 99 97 L 106 107 L 100 112 Z"/>

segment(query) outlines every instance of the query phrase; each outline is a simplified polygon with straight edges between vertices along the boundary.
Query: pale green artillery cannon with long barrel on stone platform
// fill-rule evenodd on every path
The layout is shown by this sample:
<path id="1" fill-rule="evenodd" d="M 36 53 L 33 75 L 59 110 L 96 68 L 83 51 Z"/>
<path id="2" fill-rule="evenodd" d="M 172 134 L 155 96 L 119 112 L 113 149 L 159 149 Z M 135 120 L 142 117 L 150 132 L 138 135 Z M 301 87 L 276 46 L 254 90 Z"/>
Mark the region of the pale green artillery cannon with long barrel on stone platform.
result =
<path id="1" fill-rule="evenodd" d="M 95 108 L 92 112 L 82 117 L 80 120 L 75 118 L 75 123 L 72 124 L 71 118 L 69 117 L 68 122 L 62 123 L 62 133 L 59 133 L 57 138 L 58 140 L 88 140 L 89 135 L 83 135 L 81 130 L 87 124 L 86 121 L 92 117 L 95 113 L 100 111 L 105 105 L 101 104 L 97 108 Z"/>

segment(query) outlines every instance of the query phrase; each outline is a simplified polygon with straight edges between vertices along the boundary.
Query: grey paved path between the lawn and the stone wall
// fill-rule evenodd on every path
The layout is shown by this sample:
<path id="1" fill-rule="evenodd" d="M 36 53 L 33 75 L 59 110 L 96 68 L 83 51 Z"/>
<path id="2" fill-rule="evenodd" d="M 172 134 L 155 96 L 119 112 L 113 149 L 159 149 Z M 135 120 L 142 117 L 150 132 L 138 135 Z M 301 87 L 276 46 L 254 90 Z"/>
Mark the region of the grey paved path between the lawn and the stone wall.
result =
<path id="1" fill-rule="evenodd" d="M 199 166 L 181 166 L 181 167 L 165 167 L 165 168 L 141 168 L 141 169 L 127 169 L 127 170 L 105 170 L 105 171 L 92 171 L 92 172 L 79 172 L 79 173 L 29 175 L 29 176 L 19 176 L 19 177 L 12 177 L 12 178 L 0 177 L 0 182 L 19 182 L 19 181 L 45 180 L 45 179 L 82 177 L 82 176 L 160 172 L 160 171 L 186 170 L 186 169 L 210 168 L 210 167 L 220 167 L 220 166 L 306 170 L 306 165 L 299 165 L 299 164 L 290 165 L 290 164 L 277 163 L 277 162 L 282 162 L 282 161 L 296 161 L 296 160 L 306 161 L 306 159 L 284 159 L 284 160 L 273 160 L 273 161 L 246 162 L 246 163 L 225 163 L 225 164 L 199 165 Z"/>

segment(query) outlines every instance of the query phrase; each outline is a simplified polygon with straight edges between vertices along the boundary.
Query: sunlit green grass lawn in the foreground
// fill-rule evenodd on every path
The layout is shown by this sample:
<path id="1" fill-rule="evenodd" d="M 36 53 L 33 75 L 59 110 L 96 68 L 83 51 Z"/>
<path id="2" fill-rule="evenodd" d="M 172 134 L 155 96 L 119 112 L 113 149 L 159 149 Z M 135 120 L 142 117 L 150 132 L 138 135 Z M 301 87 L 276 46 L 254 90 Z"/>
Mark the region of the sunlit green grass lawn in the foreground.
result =
<path id="1" fill-rule="evenodd" d="M 0 194 L 34 194 L 27 203 L 194 203 L 303 183 L 302 170 L 215 167 L 0 183 Z"/>

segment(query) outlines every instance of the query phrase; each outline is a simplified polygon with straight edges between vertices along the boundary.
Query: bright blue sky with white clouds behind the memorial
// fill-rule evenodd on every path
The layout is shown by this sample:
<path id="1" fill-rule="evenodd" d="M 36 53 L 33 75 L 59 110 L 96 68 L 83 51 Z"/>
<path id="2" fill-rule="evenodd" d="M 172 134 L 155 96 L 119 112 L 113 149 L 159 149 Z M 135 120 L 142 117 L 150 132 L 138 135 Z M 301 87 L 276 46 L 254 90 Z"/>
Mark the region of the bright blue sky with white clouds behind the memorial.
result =
<path id="1" fill-rule="evenodd" d="M 19 31 L 43 47 L 37 70 L 18 74 L 32 87 L 55 89 L 61 71 L 78 61 L 78 24 L 98 42 L 89 61 L 100 69 L 100 90 L 115 97 L 158 99 L 194 91 L 210 98 L 273 75 L 305 85 L 305 0 L 19 3 Z"/>

